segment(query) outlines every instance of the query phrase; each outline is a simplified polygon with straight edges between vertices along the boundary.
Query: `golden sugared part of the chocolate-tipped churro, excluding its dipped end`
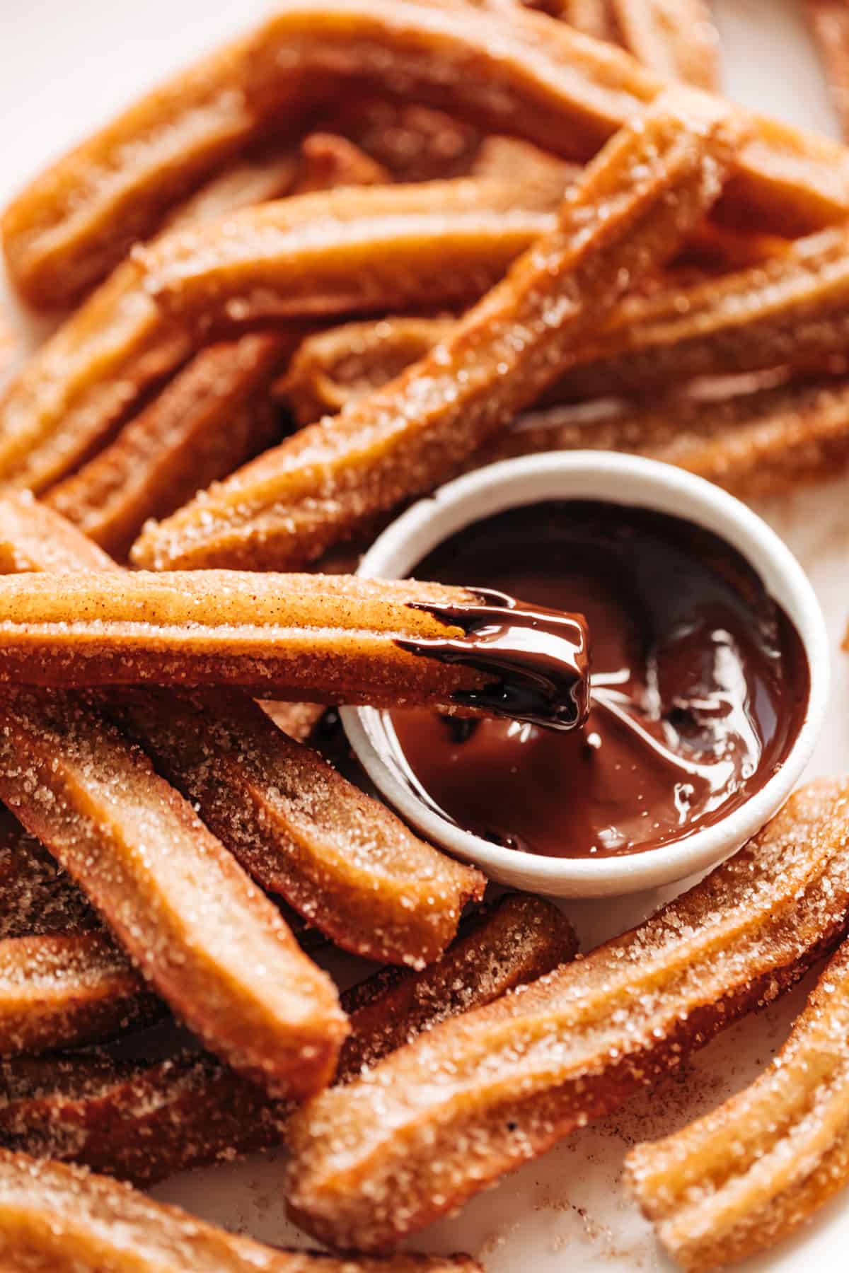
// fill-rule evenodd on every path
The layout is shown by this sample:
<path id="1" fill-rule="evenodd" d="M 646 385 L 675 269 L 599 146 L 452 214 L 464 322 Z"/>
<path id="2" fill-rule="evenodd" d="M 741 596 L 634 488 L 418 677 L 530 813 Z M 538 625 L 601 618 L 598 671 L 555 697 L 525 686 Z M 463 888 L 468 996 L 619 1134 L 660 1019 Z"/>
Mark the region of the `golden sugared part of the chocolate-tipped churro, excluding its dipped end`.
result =
<path id="1" fill-rule="evenodd" d="M 462 704 L 488 714 L 494 707 L 484 691 L 499 677 L 477 671 L 480 649 L 470 643 L 467 661 L 443 662 L 403 648 L 463 636 L 426 607 L 474 614 L 480 603 L 463 588 L 342 574 L 4 575 L 0 684 L 227 684 L 297 701 Z"/>

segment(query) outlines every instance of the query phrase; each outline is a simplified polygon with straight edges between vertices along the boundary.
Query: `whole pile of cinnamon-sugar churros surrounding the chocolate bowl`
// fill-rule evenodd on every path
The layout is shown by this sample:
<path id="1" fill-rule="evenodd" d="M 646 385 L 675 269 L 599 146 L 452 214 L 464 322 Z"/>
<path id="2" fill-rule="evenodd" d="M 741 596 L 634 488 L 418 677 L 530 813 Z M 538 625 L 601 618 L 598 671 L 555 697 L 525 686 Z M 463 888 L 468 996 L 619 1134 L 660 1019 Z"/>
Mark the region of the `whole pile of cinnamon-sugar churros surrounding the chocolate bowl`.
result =
<path id="1" fill-rule="evenodd" d="M 5 209 L 61 321 L 0 397 L 4 1269 L 471 1273 L 406 1239 L 826 955 L 770 1069 L 626 1180 L 691 1270 L 849 1181 L 849 782 L 575 957 L 321 749 L 337 704 L 523 719 L 462 657 L 491 597 L 354 574 L 446 479 L 849 465 L 849 150 L 717 64 L 703 0 L 289 0 Z M 322 942 L 383 967 L 340 997 Z M 127 1059 L 171 1017 L 193 1044 Z M 134 1188 L 283 1143 L 339 1256 Z"/>

